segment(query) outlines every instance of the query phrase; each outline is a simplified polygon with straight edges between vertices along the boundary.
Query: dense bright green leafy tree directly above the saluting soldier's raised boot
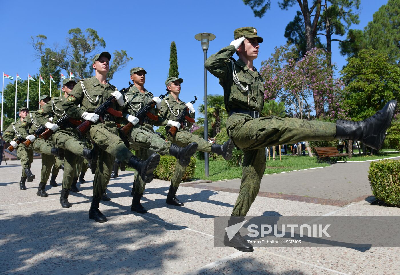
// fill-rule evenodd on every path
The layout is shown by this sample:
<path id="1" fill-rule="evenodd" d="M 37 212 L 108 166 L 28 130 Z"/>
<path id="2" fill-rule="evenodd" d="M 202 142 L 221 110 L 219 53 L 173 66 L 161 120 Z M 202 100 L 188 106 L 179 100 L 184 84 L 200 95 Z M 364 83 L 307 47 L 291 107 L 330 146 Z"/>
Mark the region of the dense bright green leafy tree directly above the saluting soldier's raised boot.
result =
<path id="1" fill-rule="evenodd" d="M 400 100 L 400 67 L 388 62 L 388 55 L 376 50 L 361 50 L 348 58 L 341 71 L 346 84 L 344 111 L 352 120 L 362 120 L 391 99 Z"/>

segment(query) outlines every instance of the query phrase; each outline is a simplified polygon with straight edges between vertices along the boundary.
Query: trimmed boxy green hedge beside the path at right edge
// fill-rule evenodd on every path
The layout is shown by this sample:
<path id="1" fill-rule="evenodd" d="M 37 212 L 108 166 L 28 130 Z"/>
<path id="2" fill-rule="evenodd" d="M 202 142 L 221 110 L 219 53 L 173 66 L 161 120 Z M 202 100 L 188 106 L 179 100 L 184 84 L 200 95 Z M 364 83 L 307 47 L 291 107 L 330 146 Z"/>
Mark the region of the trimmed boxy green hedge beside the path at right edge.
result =
<path id="1" fill-rule="evenodd" d="M 368 172 L 372 194 L 390 206 L 400 206 L 400 160 L 380 160 Z"/>

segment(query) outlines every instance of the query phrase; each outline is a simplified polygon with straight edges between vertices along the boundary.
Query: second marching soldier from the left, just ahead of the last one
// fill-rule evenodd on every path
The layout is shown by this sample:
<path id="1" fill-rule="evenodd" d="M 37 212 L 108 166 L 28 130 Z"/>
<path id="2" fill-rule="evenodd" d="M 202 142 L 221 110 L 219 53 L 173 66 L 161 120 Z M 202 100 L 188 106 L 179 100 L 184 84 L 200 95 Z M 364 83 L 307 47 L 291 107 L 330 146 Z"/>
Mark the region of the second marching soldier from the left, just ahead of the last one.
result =
<path id="1" fill-rule="evenodd" d="M 39 101 L 40 107 L 43 107 L 50 99 L 50 96 L 42 95 Z M 45 191 L 47 180 L 50 176 L 52 166 L 55 162 L 54 156 L 59 156 L 60 152 L 59 149 L 54 146 L 53 142 L 43 140 L 41 138 L 36 138 L 33 135 L 34 131 L 36 131 L 41 126 L 36 118 L 38 116 L 40 115 L 38 115 L 37 111 L 32 111 L 24 118 L 20 125 L 20 135 L 24 139 L 28 139 L 32 142 L 32 148 L 35 152 L 42 154 L 42 171 L 40 173 L 40 183 L 38 186 L 38 192 L 36 194 L 41 197 L 47 197 L 48 194 Z M 47 119 L 49 119 L 49 117 L 47 117 Z M 64 153 L 62 152 L 62 154 Z M 58 174 L 58 170 L 54 170 L 54 172 Z M 52 175 L 52 179 L 55 179 L 57 174 L 55 176 Z M 58 185 L 55 184 L 55 186 Z"/>

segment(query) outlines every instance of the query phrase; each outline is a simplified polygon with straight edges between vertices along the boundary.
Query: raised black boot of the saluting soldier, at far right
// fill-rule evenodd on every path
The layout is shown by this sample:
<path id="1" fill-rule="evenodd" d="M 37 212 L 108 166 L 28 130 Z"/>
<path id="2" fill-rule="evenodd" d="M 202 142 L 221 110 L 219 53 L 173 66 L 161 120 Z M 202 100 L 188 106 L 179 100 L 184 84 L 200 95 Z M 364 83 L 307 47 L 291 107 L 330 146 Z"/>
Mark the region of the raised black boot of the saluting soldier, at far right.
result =
<path id="1" fill-rule="evenodd" d="M 336 139 L 361 140 L 363 144 L 380 150 L 386 137 L 386 130 L 392 122 L 397 101 L 391 100 L 372 117 L 363 121 L 336 121 Z"/>

